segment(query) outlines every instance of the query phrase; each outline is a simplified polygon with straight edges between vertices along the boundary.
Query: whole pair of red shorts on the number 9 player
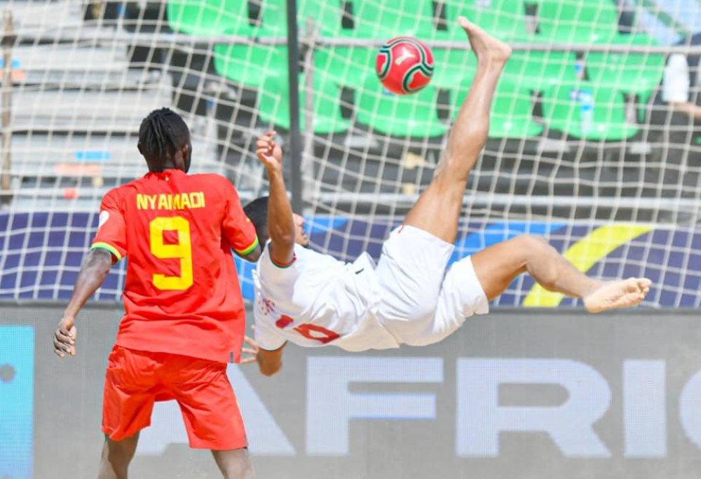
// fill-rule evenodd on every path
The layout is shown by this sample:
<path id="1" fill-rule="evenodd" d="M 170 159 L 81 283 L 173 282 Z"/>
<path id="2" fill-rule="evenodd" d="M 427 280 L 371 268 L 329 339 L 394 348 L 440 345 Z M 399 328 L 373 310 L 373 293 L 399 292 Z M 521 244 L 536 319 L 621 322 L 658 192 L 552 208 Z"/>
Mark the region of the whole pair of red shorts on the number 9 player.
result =
<path id="1" fill-rule="evenodd" d="M 226 363 L 114 346 L 104 379 L 103 433 L 128 438 L 151 424 L 154 401 L 171 399 L 180 406 L 190 447 L 247 446 Z"/>

